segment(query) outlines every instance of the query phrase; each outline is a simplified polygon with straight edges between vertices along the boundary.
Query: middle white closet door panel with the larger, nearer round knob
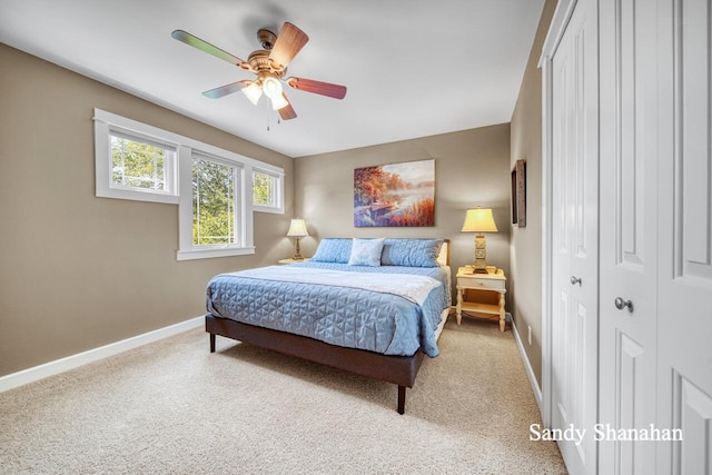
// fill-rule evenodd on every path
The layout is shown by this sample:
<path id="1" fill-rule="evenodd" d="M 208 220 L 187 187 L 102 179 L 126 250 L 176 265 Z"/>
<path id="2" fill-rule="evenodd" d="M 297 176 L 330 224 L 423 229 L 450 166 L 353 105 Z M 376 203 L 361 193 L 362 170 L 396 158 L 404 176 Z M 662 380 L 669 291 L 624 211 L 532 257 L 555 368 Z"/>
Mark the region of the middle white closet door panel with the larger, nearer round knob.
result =
<path id="1" fill-rule="evenodd" d="M 654 1 L 601 0 L 599 422 L 604 434 L 655 423 L 656 26 Z M 606 438 L 599 443 L 601 473 L 655 473 L 654 443 Z"/>

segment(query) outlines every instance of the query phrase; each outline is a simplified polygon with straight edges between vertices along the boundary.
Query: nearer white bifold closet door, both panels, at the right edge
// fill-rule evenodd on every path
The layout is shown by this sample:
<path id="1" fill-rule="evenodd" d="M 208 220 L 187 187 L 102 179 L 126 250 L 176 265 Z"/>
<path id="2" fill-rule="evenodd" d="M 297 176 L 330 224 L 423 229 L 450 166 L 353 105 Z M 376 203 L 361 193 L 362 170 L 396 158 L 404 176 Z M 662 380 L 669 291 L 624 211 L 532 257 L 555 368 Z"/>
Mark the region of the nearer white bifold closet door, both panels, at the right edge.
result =
<path id="1" fill-rule="evenodd" d="M 712 474 L 711 26 L 601 0 L 601 473 Z"/>

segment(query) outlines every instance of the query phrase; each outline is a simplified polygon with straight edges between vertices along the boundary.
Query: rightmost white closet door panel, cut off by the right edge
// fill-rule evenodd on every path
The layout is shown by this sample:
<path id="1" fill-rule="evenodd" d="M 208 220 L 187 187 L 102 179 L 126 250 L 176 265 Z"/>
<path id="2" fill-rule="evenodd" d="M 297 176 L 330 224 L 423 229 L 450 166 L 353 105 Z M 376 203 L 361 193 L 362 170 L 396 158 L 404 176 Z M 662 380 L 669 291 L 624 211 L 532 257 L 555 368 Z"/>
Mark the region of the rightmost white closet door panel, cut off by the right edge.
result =
<path id="1" fill-rule="evenodd" d="M 712 473 L 712 11 L 659 1 L 661 113 L 659 473 Z"/>

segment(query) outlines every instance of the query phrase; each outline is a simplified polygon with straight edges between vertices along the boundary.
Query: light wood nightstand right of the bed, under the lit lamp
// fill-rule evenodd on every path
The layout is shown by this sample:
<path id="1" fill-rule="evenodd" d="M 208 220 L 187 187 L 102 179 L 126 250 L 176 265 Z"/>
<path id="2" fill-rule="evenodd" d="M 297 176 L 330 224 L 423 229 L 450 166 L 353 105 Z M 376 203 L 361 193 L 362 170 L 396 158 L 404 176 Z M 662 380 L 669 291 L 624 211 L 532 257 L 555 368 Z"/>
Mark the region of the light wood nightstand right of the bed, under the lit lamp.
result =
<path id="1" fill-rule="evenodd" d="M 457 269 L 457 325 L 462 321 L 463 310 L 479 315 L 498 315 L 500 330 L 504 331 L 504 294 L 506 294 L 507 278 L 502 269 L 496 269 L 487 274 L 474 274 L 472 267 L 461 267 Z M 500 294 L 500 304 L 485 304 L 478 301 L 464 301 L 465 290 L 484 290 Z"/>

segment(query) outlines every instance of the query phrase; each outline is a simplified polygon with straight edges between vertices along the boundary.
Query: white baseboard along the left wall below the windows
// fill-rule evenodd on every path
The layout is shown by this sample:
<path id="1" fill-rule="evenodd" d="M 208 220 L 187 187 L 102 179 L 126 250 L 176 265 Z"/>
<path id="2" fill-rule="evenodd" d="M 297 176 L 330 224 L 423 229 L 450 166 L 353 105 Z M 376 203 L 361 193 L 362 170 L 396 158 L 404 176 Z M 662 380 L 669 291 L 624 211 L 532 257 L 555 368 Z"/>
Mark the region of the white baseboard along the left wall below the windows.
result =
<path id="1" fill-rule="evenodd" d="M 132 349 L 149 343 L 157 342 L 161 338 L 177 335 L 192 328 L 198 328 L 199 326 L 204 325 L 204 323 L 205 317 L 195 317 L 189 320 L 159 328 L 154 331 L 137 335 L 131 338 L 122 339 L 120 342 L 111 343 L 109 345 L 100 346 L 98 348 L 89 349 L 87 352 L 78 353 L 76 355 L 67 356 L 53 362 L 44 363 L 42 365 L 34 366 L 28 369 L 22 369 L 21 372 L 11 373 L 9 375 L 0 377 L 0 393 L 46 378 L 48 376 L 57 375 L 59 373 L 77 368 L 79 366 L 86 365 L 87 363 L 92 363 L 102 358 L 107 358 L 109 356 L 113 356 L 121 352 L 126 352 L 127 349 Z"/>

